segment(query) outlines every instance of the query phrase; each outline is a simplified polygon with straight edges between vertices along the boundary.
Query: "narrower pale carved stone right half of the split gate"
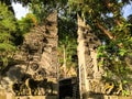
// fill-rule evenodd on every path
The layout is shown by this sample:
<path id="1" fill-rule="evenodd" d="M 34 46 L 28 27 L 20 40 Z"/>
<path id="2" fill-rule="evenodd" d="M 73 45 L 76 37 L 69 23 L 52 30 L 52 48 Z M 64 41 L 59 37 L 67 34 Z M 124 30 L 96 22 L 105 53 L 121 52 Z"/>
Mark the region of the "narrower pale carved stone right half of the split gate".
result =
<path id="1" fill-rule="evenodd" d="M 97 62 L 97 47 L 101 44 L 91 28 L 78 15 L 78 66 L 80 97 L 101 92 L 101 69 Z M 100 86 L 100 87 L 99 87 Z M 82 98 L 85 99 L 85 98 Z"/>

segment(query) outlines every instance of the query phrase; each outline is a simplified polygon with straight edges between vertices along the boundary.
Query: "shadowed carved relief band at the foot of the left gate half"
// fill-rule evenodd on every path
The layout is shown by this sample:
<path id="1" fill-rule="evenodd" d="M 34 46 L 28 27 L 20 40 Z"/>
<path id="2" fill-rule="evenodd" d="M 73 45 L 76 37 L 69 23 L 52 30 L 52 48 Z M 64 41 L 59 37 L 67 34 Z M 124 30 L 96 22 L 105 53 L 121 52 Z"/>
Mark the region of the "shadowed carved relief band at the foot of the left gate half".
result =
<path id="1" fill-rule="evenodd" d="M 28 78 L 25 82 L 14 82 L 12 85 L 12 90 L 15 96 L 53 95 L 53 85 L 52 81 L 47 81 L 47 79 L 35 80 Z"/>

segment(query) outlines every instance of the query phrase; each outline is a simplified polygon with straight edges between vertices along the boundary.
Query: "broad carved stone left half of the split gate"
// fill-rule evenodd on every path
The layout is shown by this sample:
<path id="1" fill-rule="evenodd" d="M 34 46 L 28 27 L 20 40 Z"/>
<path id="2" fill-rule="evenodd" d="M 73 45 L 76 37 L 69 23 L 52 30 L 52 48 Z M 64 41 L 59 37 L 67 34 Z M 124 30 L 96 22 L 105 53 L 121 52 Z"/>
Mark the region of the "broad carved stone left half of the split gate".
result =
<path id="1" fill-rule="evenodd" d="M 6 77 L 11 80 L 8 81 L 7 86 L 13 85 L 12 88 L 9 88 L 10 91 L 13 89 L 18 94 L 18 91 L 21 90 L 22 92 L 25 91 L 25 94 L 31 95 L 33 91 L 26 91 L 31 89 L 34 90 L 34 88 L 30 86 L 32 81 L 36 84 L 36 89 L 41 90 L 44 90 L 41 84 L 57 86 L 57 12 L 54 11 L 45 19 L 42 25 L 37 25 L 24 35 L 23 44 L 14 55 L 16 65 L 10 67 L 6 73 Z M 23 77 L 26 75 L 29 75 L 29 81 L 28 79 L 23 80 Z M 6 77 L 2 78 L 1 82 Z M 31 81 L 31 79 L 33 80 Z M 45 79 L 47 79 L 47 81 L 45 81 Z M 26 84 L 30 87 L 28 87 Z M 57 87 L 53 86 L 52 91 L 56 92 L 56 90 Z"/>

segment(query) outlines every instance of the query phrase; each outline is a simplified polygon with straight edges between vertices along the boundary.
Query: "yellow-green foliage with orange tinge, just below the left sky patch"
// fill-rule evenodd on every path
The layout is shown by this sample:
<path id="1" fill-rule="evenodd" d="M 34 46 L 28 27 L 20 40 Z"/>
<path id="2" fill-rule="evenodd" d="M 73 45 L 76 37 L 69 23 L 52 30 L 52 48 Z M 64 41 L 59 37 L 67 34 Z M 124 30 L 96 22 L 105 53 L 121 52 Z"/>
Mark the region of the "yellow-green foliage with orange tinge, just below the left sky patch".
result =
<path id="1" fill-rule="evenodd" d="M 37 20 L 32 13 L 28 13 L 21 20 L 16 20 L 16 32 L 13 34 L 15 45 L 21 45 L 23 43 L 23 35 L 34 26 L 37 26 Z"/>

